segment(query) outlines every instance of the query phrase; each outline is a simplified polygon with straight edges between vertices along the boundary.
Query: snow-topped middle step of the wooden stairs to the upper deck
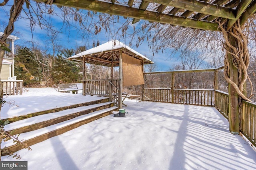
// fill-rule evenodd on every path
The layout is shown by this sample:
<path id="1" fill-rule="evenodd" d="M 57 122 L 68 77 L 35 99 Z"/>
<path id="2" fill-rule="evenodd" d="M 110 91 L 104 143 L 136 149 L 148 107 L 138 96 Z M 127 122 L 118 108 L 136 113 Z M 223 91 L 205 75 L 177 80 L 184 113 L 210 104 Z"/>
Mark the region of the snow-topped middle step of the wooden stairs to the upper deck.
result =
<path id="1" fill-rule="evenodd" d="M 73 109 L 58 111 L 55 113 L 48 113 L 45 115 L 39 115 L 7 124 L 4 126 L 4 130 L 11 133 L 12 135 L 20 134 L 39 128 L 48 127 L 56 123 L 67 121 L 69 119 L 73 119 L 75 117 L 92 113 L 101 109 L 106 109 L 112 106 L 114 106 L 113 102 L 106 102 L 89 106 L 76 107 Z"/>

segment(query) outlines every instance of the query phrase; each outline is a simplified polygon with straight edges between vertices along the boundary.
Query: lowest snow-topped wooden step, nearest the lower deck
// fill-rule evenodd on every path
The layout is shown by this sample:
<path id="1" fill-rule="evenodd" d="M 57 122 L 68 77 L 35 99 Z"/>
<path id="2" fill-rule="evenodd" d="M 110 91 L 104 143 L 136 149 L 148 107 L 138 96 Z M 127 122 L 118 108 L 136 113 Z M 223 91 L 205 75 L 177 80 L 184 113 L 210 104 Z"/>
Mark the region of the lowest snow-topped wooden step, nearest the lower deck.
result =
<path id="1" fill-rule="evenodd" d="M 90 123 L 107 115 L 110 115 L 112 111 L 118 111 L 118 107 L 110 107 L 107 109 L 102 109 L 100 111 L 95 111 L 92 113 L 88 113 L 86 115 L 82 115 L 76 117 L 74 119 L 70 119 L 68 121 L 64 121 L 61 123 L 57 123 L 48 127 L 40 128 L 37 130 L 33 130 L 30 132 L 22 133 L 18 136 L 19 140 L 24 141 L 25 144 L 31 146 L 33 144 L 42 142 L 48 138 L 57 136 L 74 128 L 77 128 L 86 123 Z M 6 142 L 2 142 L 1 147 L 6 149 L 9 152 L 16 152 L 22 149 L 22 144 L 14 144 L 12 140 L 8 140 Z M 7 155 L 7 153 L 2 153 L 2 156 Z"/>

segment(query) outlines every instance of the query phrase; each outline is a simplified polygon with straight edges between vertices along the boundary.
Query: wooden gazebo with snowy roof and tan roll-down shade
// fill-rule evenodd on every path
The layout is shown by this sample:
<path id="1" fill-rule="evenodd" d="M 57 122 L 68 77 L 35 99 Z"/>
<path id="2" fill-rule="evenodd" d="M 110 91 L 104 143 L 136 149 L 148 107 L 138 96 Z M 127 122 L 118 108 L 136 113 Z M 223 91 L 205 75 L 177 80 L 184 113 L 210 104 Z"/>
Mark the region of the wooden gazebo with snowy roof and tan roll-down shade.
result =
<path id="1" fill-rule="evenodd" d="M 144 85 L 143 65 L 154 63 L 118 40 L 112 40 L 69 58 L 83 63 L 83 95 L 112 96 L 122 107 L 122 87 Z M 111 79 L 86 80 L 86 63 L 111 67 Z M 119 79 L 113 79 L 113 67 L 119 67 Z"/>

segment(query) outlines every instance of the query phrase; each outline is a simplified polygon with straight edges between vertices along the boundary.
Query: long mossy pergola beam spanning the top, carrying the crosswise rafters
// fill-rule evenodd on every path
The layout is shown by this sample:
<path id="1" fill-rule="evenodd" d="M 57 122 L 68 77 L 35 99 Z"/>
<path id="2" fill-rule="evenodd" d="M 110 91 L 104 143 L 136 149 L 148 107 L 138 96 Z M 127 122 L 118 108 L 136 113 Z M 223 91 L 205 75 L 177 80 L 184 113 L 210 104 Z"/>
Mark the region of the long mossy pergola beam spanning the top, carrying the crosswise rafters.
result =
<path id="1" fill-rule="evenodd" d="M 36 0 L 37 2 L 46 2 L 46 0 Z M 142 20 L 148 20 L 152 22 L 160 22 L 165 24 L 172 24 L 190 28 L 196 28 L 201 30 L 213 30 L 218 31 L 218 24 L 208 23 L 204 21 L 197 21 L 194 19 L 172 16 L 169 14 L 162 14 L 159 12 L 140 10 L 138 8 L 131 8 L 128 6 L 122 6 L 119 4 L 111 4 L 103 1 L 90 1 L 90 0 L 78 0 L 66 1 L 66 0 L 54 0 L 53 4 L 63 5 L 73 8 L 80 8 L 91 11 L 98 11 L 108 14 L 127 16 L 131 18 L 137 18 Z"/>

